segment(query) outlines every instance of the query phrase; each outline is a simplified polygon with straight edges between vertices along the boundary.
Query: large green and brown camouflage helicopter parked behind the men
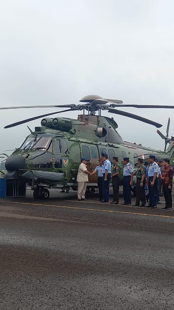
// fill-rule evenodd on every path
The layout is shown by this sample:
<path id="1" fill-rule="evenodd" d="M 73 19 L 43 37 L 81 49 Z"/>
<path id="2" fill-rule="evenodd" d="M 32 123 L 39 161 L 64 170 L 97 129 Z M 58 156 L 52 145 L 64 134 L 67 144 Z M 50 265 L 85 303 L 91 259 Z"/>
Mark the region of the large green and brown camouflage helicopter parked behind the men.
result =
<path id="1" fill-rule="evenodd" d="M 33 190 L 34 199 L 46 200 L 50 196 L 50 188 L 67 189 L 71 187 L 73 190 L 77 190 L 76 178 L 81 158 L 86 157 L 88 159 L 87 169 L 92 172 L 98 165 L 98 159 L 102 157 L 103 153 L 108 154 L 111 162 L 114 156 L 119 157 L 119 164 L 122 168 L 120 185 L 123 182 L 124 165 L 122 159 L 124 157 L 129 157 L 134 174 L 137 171 L 138 158 L 147 160 L 150 154 L 154 154 L 159 159 L 169 158 L 170 163 L 173 164 L 174 137 L 168 138 L 170 118 L 168 119 L 166 136 L 157 130 L 157 133 L 165 140 L 164 151 L 160 151 L 144 147 L 141 144 L 123 141 L 116 130 L 118 125 L 114 118 L 104 117 L 101 112 L 107 110 L 109 113 L 124 115 L 160 128 L 162 125 L 159 123 L 115 108 L 174 108 L 174 106 L 123 104 L 122 100 L 103 99 L 98 95 L 88 95 L 80 100 L 80 104 L 18 106 L 0 109 L 55 107 L 66 109 L 28 118 L 4 127 L 12 128 L 42 118 L 41 126 L 35 127 L 34 131 L 27 126 L 30 134 L 9 157 L 3 153 L 7 156 L 4 179 L 7 180 L 8 184 L 13 184 L 11 187 L 8 186 L 9 193 L 13 192 L 13 195 L 20 196 L 21 193 L 26 192 L 27 184 Z M 87 114 L 85 114 L 85 110 L 88 111 Z M 77 119 L 50 117 L 53 114 L 69 111 L 83 111 L 83 113 L 78 115 Z M 167 144 L 169 144 L 168 148 Z M 134 185 L 136 184 L 135 179 L 134 176 Z M 89 176 L 87 191 L 94 193 L 97 188 L 97 176 Z M 135 194 L 135 186 L 133 193 Z"/>

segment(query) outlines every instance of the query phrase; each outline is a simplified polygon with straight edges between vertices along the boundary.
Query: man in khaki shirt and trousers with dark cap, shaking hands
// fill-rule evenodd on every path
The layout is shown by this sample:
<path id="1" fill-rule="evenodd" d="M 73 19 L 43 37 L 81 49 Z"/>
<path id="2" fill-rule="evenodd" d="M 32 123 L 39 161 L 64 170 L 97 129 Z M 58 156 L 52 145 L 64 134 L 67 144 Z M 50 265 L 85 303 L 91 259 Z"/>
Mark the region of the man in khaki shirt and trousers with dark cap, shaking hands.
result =
<path id="1" fill-rule="evenodd" d="M 83 157 L 81 159 L 81 164 L 79 166 L 78 174 L 77 174 L 77 182 L 78 182 L 78 200 L 87 200 L 85 198 L 86 187 L 88 184 L 88 175 L 92 175 L 86 168 L 87 159 Z"/>

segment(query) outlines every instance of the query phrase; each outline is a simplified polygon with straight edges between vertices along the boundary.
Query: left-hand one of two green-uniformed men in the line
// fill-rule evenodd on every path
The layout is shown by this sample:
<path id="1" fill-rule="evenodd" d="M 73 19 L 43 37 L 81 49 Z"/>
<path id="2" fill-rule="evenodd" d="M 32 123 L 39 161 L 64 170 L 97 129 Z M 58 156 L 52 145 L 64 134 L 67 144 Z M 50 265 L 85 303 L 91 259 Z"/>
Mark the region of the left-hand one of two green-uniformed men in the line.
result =
<path id="1" fill-rule="evenodd" d="M 113 157 L 113 166 L 111 171 L 112 188 L 113 188 L 113 205 L 119 204 L 119 186 L 120 186 L 120 166 L 118 165 L 118 157 Z"/>

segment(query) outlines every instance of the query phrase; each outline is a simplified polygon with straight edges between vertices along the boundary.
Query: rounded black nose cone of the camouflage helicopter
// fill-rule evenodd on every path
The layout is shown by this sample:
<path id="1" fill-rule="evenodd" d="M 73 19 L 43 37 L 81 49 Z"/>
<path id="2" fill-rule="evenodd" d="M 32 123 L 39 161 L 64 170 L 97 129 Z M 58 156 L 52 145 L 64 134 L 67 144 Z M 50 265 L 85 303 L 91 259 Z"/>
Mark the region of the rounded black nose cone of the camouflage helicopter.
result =
<path id="1" fill-rule="evenodd" d="M 19 169 L 25 169 L 25 158 L 20 155 L 11 155 L 5 162 L 6 170 L 17 171 Z"/>

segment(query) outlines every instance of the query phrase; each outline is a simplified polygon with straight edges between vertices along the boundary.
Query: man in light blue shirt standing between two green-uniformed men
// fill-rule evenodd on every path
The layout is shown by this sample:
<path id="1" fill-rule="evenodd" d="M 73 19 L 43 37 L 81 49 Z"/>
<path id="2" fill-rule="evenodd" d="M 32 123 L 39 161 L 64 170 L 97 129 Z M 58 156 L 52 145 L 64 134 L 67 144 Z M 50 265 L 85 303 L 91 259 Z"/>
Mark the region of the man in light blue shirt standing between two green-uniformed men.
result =
<path id="1" fill-rule="evenodd" d="M 129 163 L 129 157 L 123 158 L 123 197 L 124 203 L 121 205 L 131 205 L 131 186 L 133 185 L 133 166 Z"/>

